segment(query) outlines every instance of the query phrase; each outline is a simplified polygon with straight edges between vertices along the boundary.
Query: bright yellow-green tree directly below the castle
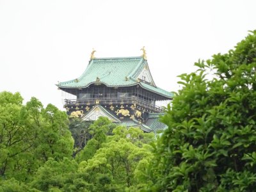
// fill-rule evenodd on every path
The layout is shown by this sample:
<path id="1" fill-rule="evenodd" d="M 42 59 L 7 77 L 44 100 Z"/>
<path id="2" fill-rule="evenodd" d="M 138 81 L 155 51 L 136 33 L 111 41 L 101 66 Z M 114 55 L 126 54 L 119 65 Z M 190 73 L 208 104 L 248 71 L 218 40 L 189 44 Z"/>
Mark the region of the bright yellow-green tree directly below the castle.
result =
<path id="1" fill-rule="evenodd" d="M 76 178 L 83 178 L 83 187 L 89 191 L 138 191 L 150 182 L 145 170 L 152 158 L 148 143 L 153 141 L 154 134 L 117 126 L 108 136 L 106 127 L 111 127 L 106 118 L 92 125 L 92 140 L 77 154 L 80 163 Z"/>

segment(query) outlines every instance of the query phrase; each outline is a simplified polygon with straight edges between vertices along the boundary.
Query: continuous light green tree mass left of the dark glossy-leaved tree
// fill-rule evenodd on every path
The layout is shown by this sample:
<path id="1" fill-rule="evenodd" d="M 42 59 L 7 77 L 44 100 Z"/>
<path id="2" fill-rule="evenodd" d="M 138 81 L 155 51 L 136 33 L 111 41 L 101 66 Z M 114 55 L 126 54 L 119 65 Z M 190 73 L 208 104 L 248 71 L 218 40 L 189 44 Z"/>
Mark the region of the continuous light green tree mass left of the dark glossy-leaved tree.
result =
<path id="1" fill-rule="evenodd" d="M 138 191 L 150 182 L 154 134 L 102 117 L 90 127 L 72 122 L 89 140 L 72 159 L 68 123 L 52 104 L 31 98 L 22 105 L 19 93 L 0 93 L 0 191 Z"/>

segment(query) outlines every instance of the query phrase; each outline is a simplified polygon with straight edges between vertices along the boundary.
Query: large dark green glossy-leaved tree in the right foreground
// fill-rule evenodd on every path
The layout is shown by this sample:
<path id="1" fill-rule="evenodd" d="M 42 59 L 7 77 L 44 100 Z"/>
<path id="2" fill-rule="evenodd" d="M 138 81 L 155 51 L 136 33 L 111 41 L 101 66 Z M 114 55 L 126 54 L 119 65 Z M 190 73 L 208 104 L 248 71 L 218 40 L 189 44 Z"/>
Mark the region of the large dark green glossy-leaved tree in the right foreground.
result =
<path id="1" fill-rule="evenodd" d="M 198 61 L 161 119 L 152 191 L 255 191 L 256 31 Z"/>

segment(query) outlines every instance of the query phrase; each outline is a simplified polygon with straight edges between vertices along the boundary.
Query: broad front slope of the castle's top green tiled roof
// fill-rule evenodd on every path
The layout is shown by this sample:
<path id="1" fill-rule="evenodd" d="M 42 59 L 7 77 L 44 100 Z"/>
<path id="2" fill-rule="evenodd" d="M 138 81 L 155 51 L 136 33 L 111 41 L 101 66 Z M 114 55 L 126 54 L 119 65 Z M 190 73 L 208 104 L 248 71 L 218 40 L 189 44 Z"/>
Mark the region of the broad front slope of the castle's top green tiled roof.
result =
<path id="1" fill-rule="evenodd" d="M 136 84 L 137 82 L 130 79 L 130 77 L 136 74 L 141 65 L 143 67 L 143 61 L 142 57 L 95 58 L 90 60 L 88 67 L 77 80 L 61 82 L 58 86 L 63 88 L 83 88 L 91 83 L 97 83 L 97 77 L 99 77 L 100 83 L 108 86 Z"/>

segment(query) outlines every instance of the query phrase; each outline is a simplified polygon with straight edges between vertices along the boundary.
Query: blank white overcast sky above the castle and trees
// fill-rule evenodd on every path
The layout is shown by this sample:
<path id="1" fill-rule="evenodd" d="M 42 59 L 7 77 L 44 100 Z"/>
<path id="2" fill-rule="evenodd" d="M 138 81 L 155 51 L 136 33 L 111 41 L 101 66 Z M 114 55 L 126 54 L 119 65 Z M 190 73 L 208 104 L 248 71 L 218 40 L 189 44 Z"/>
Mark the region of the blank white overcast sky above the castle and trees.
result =
<path id="1" fill-rule="evenodd" d="M 256 29 L 256 1 L 0 0 L 0 92 L 63 109 L 58 81 L 96 57 L 140 56 L 157 86 L 177 91 L 198 59 L 225 53 Z"/>

